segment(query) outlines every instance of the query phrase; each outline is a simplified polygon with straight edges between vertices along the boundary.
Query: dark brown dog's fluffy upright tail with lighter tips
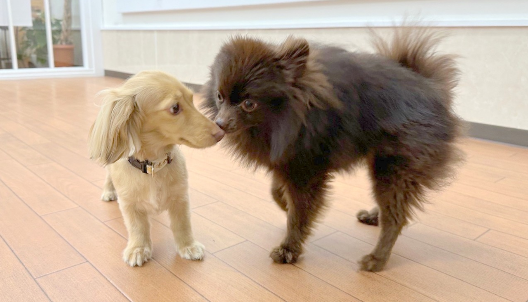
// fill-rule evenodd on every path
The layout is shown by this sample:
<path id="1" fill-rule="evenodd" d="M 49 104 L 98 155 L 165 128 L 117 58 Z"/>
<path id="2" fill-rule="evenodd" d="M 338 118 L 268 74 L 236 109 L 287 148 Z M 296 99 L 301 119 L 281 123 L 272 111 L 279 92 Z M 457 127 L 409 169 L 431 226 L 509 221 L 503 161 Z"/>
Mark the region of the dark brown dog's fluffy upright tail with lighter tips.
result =
<path id="1" fill-rule="evenodd" d="M 373 31 L 372 34 L 373 47 L 379 54 L 435 81 L 448 94 L 451 102 L 452 90 L 458 84 L 459 70 L 455 63 L 456 56 L 436 52 L 444 35 L 427 27 L 414 26 L 398 27 L 391 41 L 384 40 Z"/>

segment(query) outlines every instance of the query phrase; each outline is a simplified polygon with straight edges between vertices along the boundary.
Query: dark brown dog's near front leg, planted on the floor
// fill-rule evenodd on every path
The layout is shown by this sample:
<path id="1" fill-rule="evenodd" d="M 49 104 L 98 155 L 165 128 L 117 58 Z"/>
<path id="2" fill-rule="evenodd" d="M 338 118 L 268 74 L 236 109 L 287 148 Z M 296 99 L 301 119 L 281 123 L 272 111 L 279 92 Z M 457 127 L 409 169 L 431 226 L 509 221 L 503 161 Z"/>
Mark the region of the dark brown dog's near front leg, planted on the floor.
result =
<path id="1" fill-rule="evenodd" d="M 288 203 L 287 234 L 282 243 L 270 253 L 275 262 L 293 263 L 303 252 L 303 243 L 325 205 L 328 180 L 327 173 L 320 173 L 306 182 L 286 182 L 284 198 Z"/>

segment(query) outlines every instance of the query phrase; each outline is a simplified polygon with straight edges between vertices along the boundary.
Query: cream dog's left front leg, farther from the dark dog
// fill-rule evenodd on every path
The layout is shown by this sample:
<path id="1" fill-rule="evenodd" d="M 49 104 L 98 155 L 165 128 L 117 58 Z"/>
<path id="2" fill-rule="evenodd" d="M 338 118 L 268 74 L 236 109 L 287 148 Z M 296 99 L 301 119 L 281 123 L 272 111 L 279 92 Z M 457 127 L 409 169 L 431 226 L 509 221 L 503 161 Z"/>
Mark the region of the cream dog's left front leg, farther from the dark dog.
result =
<path id="1" fill-rule="evenodd" d="M 123 251 L 123 260 L 131 267 L 140 267 L 152 257 L 148 215 L 137 208 L 135 202 L 120 201 L 119 209 L 128 231 L 128 243 Z"/>

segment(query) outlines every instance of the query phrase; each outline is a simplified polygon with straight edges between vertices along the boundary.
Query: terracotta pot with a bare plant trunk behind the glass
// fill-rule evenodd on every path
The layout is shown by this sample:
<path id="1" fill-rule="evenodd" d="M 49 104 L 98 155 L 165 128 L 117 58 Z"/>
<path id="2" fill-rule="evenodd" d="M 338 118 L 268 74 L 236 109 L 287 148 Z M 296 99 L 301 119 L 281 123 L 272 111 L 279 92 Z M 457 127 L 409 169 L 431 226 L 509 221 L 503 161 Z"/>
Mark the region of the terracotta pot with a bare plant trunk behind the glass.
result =
<path id="1" fill-rule="evenodd" d="M 55 67 L 73 66 L 73 43 L 71 41 L 71 0 L 64 0 L 60 38 L 53 43 Z"/>

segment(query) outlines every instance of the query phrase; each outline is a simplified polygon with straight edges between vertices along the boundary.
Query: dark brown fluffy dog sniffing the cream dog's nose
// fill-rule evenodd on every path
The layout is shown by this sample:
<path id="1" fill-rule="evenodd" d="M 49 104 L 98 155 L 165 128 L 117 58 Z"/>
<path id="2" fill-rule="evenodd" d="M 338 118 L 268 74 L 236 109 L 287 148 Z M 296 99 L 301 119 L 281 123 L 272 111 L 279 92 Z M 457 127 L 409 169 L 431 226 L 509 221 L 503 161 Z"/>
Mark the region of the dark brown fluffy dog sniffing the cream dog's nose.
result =
<path id="1" fill-rule="evenodd" d="M 427 189 L 452 175 L 461 121 L 452 112 L 458 70 L 435 52 L 438 35 L 399 28 L 378 53 L 288 38 L 280 45 L 237 36 L 223 45 L 204 87 L 205 108 L 238 159 L 272 174 L 272 195 L 288 233 L 271 252 L 295 262 L 325 205 L 332 174 L 361 162 L 378 208 L 357 218 L 381 223 L 367 271 L 383 269 Z"/>

